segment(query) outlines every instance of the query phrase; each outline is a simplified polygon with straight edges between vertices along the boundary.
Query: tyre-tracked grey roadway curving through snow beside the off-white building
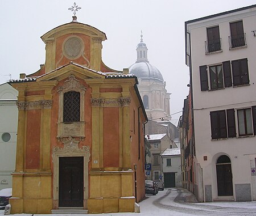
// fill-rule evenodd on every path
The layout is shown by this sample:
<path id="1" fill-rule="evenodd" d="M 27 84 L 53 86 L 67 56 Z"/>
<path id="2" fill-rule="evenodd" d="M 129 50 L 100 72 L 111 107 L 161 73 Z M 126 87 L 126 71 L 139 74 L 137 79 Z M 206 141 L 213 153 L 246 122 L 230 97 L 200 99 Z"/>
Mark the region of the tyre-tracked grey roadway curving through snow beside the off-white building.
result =
<path id="1" fill-rule="evenodd" d="M 251 203 L 251 206 L 247 206 L 248 202 L 233 203 L 234 207 L 220 206 L 220 204 L 200 204 L 200 203 L 187 203 L 186 197 L 191 197 L 191 193 L 183 188 L 170 188 L 165 189 L 156 195 L 152 196 L 152 204 L 160 209 L 175 211 L 176 213 L 183 213 L 186 215 L 256 215 L 256 202 Z M 150 198 L 151 198 L 150 197 Z M 239 205 L 236 205 L 239 204 Z M 243 204 L 245 205 L 243 207 Z M 224 204 L 225 205 L 225 204 Z M 255 205 L 255 206 L 253 206 Z"/>

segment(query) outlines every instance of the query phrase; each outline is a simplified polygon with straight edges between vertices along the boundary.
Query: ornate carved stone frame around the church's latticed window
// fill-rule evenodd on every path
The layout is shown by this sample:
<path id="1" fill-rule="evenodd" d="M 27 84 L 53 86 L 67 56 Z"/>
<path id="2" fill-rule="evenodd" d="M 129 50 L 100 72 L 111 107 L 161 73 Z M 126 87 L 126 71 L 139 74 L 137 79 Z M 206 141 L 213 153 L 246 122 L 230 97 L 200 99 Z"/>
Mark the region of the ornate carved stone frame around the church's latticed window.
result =
<path id="1" fill-rule="evenodd" d="M 80 92 L 80 121 L 79 122 L 63 122 L 63 96 L 65 92 L 76 91 Z M 60 86 L 57 90 L 59 92 L 59 117 L 58 117 L 58 129 L 57 138 L 63 137 L 85 137 L 85 121 L 84 121 L 84 94 L 86 87 L 80 84 L 75 75 L 70 75 L 63 86 Z"/>

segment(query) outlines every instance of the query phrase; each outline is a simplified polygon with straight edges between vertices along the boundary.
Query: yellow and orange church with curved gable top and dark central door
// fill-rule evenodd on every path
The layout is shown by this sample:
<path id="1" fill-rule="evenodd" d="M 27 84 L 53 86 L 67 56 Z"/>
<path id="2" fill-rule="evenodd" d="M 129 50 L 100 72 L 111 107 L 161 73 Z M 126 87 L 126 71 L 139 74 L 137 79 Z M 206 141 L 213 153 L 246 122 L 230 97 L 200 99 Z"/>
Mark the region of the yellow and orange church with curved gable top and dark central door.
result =
<path id="1" fill-rule="evenodd" d="M 11 214 L 134 211 L 147 121 L 137 78 L 106 66 L 105 33 L 76 19 L 42 40 L 45 64 L 10 81 L 19 92 Z"/>

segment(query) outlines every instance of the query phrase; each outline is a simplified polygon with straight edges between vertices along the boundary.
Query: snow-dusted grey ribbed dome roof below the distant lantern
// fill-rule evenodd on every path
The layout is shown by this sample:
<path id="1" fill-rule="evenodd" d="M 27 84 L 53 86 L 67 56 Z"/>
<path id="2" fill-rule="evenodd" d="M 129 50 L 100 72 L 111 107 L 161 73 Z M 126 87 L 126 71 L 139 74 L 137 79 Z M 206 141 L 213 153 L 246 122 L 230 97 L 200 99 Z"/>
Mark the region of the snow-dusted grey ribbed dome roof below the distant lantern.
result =
<path id="1" fill-rule="evenodd" d="M 134 63 L 129 67 L 129 73 L 136 75 L 138 78 L 151 78 L 164 81 L 160 71 L 146 61 Z"/>

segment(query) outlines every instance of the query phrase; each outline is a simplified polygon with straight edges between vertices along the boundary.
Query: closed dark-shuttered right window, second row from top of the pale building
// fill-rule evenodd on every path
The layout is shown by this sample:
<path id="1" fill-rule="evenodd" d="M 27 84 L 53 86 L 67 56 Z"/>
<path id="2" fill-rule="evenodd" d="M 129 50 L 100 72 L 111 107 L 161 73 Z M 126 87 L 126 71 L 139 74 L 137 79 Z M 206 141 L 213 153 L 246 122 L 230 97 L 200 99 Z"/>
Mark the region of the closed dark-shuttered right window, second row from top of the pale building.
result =
<path id="1" fill-rule="evenodd" d="M 232 61 L 233 86 L 249 84 L 247 58 Z"/>

